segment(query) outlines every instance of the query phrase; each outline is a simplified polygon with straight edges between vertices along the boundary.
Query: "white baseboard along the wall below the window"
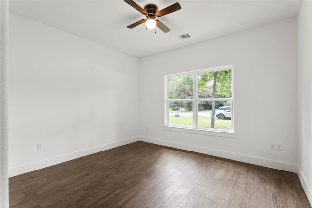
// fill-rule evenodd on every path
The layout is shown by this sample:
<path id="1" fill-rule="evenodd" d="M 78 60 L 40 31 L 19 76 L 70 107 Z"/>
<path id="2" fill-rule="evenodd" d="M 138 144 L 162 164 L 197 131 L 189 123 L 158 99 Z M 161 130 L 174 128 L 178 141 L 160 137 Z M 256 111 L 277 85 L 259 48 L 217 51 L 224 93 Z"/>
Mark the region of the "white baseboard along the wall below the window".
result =
<path id="1" fill-rule="evenodd" d="M 285 170 L 285 171 L 297 173 L 297 165 L 292 164 L 292 163 L 285 163 L 285 162 L 276 161 L 276 160 L 269 160 L 266 158 L 254 157 L 250 155 L 239 154 L 239 153 L 234 153 L 234 152 L 229 152 L 229 151 L 214 150 L 214 149 L 188 145 L 188 144 L 182 144 L 182 143 L 177 143 L 177 142 L 171 142 L 171 141 L 155 139 L 155 138 L 150 138 L 150 137 L 140 136 L 139 139 L 140 141 L 143 141 L 143 142 L 149 142 L 149 143 L 177 148 L 181 150 L 194 151 L 194 152 L 208 154 L 208 155 L 212 155 L 216 157 L 222 157 L 226 159 L 236 160 L 236 161 L 264 166 L 268 168 Z"/>

